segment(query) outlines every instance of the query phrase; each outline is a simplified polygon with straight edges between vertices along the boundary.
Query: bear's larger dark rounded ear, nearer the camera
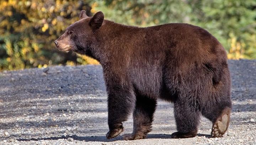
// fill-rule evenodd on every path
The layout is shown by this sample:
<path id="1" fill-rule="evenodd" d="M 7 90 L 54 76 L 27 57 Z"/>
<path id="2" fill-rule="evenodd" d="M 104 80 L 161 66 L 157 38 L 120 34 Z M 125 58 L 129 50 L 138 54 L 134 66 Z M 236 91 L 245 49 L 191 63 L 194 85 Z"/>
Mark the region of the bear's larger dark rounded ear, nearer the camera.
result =
<path id="1" fill-rule="evenodd" d="M 104 14 L 102 12 L 96 12 L 90 19 L 89 25 L 92 27 L 92 29 L 98 29 L 101 27 L 103 20 Z"/>

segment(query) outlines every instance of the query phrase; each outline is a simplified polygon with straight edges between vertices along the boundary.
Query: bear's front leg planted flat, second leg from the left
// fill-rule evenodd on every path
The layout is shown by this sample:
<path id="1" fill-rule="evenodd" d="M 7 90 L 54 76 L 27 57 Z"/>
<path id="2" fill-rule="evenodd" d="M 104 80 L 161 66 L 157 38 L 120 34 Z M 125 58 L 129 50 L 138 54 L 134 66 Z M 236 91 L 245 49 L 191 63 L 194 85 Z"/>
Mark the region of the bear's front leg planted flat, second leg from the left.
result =
<path id="1" fill-rule="evenodd" d="M 123 137 L 124 140 L 146 138 L 147 133 L 151 131 L 155 107 L 155 99 L 137 96 L 136 107 L 133 112 L 133 133 L 125 134 Z"/>

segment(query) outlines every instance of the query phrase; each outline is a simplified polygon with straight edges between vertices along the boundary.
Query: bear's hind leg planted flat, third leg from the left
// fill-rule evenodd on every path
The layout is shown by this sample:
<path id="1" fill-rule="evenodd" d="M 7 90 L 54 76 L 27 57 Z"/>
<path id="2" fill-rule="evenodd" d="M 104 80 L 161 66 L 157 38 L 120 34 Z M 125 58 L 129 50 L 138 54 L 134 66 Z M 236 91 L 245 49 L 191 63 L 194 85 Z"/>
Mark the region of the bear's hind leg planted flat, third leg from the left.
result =
<path id="1" fill-rule="evenodd" d="M 172 133 L 171 138 L 192 138 L 196 136 L 199 115 L 199 110 L 193 101 L 185 98 L 177 99 L 174 102 L 174 116 L 178 132 Z"/>

